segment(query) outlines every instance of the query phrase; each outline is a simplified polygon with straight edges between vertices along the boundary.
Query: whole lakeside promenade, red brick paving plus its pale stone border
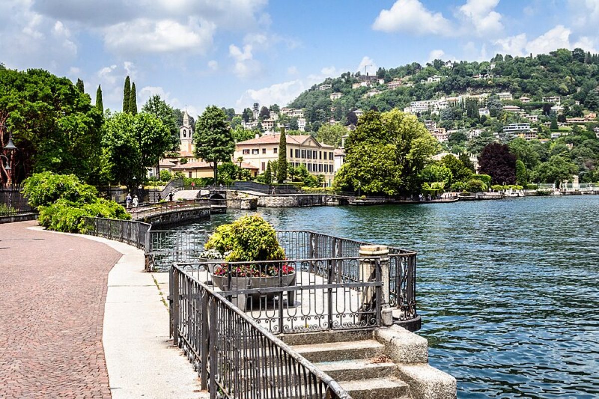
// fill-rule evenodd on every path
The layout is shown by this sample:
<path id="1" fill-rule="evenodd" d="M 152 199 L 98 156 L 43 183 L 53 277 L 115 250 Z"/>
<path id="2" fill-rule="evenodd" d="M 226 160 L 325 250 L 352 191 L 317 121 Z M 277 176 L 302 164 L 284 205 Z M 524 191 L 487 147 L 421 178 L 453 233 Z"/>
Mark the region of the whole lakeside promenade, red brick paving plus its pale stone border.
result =
<path id="1" fill-rule="evenodd" d="M 206 397 L 141 250 L 7 223 L 0 267 L 0 397 Z"/>

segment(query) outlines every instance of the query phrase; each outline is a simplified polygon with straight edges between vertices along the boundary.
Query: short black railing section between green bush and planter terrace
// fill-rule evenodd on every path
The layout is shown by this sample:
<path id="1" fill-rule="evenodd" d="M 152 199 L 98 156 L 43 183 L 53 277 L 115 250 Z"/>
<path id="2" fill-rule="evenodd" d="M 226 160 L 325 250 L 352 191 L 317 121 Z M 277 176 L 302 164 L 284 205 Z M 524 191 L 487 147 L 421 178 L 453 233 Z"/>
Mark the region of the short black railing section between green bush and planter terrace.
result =
<path id="1" fill-rule="evenodd" d="M 149 223 L 135 220 L 105 219 L 103 217 L 86 218 L 87 234 L 121 241 L 140 249 L 147 247 L 147 231 L 151 226 Z"/>

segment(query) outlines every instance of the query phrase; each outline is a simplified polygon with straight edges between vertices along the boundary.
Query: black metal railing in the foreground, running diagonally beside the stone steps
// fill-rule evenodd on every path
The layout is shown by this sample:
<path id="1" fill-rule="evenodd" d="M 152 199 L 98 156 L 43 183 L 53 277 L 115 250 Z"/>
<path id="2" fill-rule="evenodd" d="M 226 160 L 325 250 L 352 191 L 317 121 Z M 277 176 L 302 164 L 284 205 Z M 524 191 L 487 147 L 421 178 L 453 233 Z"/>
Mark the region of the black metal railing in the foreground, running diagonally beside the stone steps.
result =
<path id="1" fill-rule="evenodd" d="M 210 398 L 350 399 L 331 377 L 187 273 L 170 270 L 173 343 Z"/>

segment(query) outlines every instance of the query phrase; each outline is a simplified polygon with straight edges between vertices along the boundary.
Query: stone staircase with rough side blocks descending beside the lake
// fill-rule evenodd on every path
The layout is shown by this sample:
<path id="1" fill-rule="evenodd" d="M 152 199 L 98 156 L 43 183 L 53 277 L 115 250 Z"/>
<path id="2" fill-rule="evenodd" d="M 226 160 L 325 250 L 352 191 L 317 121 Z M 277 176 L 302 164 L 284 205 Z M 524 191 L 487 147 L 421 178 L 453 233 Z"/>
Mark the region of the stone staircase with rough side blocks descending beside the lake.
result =
<path id="1" fill-rule="evenodd" d="M 335 379 L 353 399 L 456 397 L 455 379 L 428 365 L 426 340 L 401 327 L 281 338 Z"/>

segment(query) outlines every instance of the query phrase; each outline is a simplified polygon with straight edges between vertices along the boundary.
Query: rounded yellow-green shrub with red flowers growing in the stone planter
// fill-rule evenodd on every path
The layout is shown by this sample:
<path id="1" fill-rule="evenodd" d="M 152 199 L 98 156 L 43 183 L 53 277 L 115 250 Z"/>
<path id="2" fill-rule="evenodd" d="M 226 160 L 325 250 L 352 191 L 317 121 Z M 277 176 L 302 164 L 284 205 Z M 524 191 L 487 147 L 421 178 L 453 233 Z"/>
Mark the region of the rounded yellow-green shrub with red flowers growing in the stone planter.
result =
<path id="1" fill-rule="evenodd" d="M 284 261 L 285 250 L 279 245 L 276 231 L 262 217 L 243 216 L 233 223 L 220 225 L 217 231 L 208 238 L 205 249 L 226 253 L 227 262 L 260 262 L 231 265 L 231 276 L 234 277 L 268 277 L 292 274 L 295 270 Z M 214 269 L 214 275 L 224 276 L 228 273 L 228 265 Z"/>

